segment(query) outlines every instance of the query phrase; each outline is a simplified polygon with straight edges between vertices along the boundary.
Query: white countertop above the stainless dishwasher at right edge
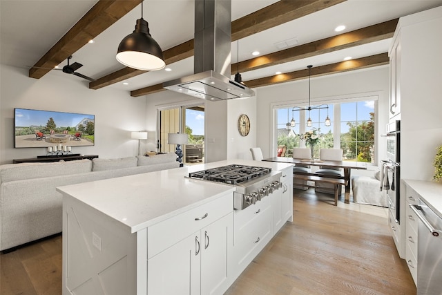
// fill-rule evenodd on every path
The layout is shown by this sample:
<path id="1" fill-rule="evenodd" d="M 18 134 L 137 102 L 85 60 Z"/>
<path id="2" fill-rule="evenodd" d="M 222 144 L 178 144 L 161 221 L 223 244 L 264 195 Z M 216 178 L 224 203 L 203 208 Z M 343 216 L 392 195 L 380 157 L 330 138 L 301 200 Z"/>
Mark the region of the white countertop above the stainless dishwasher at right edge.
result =
<path id="1" fill-rule="evenodd" d="M 425 180 L 403 180 L 416 193 L 424 199 L 428 205 L 440 218 L 442 218 L 442 184 Z"/>

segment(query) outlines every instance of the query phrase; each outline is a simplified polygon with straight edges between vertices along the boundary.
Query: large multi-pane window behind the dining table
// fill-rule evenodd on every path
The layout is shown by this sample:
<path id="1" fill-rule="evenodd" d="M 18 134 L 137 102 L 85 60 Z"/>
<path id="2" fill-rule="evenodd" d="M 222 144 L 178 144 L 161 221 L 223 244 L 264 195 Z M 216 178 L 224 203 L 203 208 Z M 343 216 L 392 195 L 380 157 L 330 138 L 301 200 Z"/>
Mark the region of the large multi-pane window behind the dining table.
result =
<path id="1" fill-rule="evenodd" d="M 322 139 L 315 146 L 315 158 L 319 158 L 319 149 L 337 149 L 336 146 L 340 146 L 344 151 L 344 160 L 374 162 L 374 104 L 373 99 L 328 104 L 328 114 L 327 108 L 311 111 L 277 108 L 277 146 L 287 146 L 285 157 L 291 157 L 294 147 L 308 147 L 298 135 L 316 128 L 320 129 Z M 331 126 L 325 126 L 327 115 L 332 122 Z M 306 126 L 309 117 L 311 127 Z M 290 125 L 292 118 L 296 121 L 294 127 Z"/>

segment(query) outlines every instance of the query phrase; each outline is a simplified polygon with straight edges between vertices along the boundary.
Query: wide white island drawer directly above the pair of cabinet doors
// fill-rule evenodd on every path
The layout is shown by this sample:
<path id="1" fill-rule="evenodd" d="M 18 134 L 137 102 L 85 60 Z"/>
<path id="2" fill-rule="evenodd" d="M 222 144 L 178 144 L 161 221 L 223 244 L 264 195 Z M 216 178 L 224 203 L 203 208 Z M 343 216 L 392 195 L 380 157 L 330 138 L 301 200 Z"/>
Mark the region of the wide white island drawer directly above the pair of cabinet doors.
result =
<path id="1" fill-rule="evenodd" d="M 232 211 L 233 193 L 227 193 L 212 202 L 148 227 L 147 257 L 155 256 Z"/>

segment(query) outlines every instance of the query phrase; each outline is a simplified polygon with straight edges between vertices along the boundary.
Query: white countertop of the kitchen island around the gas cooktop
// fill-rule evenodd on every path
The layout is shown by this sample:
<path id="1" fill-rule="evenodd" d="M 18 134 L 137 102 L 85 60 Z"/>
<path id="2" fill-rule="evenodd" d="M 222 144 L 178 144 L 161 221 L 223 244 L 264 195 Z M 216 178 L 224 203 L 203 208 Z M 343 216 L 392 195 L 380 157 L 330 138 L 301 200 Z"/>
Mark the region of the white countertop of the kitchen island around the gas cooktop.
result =
<path id="1" fill-rule="evenodd" d="M 227 160 L 72 184 L 57 187 L 57 191 L 118 220 L 134 233 L 215 200 L 225 193 L 233 193 L 235 187 L 229 184 L 185 177 L 189 172 L 229 164 L 270 167 L 273 171 L 293 166 L 253 160 Z"/>

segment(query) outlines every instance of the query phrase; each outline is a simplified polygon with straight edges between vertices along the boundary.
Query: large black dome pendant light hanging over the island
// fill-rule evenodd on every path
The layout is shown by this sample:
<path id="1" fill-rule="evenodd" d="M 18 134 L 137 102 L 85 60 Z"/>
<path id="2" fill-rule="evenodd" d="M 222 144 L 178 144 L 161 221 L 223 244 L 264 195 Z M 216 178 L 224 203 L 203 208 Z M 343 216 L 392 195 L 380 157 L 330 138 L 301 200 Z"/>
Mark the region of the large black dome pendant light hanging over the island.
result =
<path id="1" fill-rule="evenodd" d="M 148 23 L 143 19 L 143 1 L 141 19 L 137 19 L 133 33 L 119 43 L 117 61 L 138 70 L 161 70 L 166 66 L 163 51 L 152 38 Z"/>

